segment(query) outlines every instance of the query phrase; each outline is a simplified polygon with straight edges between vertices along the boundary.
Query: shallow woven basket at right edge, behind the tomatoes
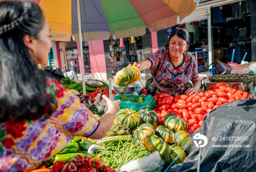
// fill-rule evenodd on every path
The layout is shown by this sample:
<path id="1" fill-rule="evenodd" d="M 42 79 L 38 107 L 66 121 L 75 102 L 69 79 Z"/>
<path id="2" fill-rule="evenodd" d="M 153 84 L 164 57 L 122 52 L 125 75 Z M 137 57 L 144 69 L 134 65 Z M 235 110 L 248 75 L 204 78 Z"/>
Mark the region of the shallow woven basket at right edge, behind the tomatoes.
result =
<path id="1" fill-rule="evenodd" d="M 233 78 L 233 79 L 215 79 L 212 78 L 215 75 L 209 76 L 209 80 L 211 83 L 225 82 L 225 83 L 251 83 L 256 80 L 256 74 L 249 77 L 241 77 L 241 78 Z"/>

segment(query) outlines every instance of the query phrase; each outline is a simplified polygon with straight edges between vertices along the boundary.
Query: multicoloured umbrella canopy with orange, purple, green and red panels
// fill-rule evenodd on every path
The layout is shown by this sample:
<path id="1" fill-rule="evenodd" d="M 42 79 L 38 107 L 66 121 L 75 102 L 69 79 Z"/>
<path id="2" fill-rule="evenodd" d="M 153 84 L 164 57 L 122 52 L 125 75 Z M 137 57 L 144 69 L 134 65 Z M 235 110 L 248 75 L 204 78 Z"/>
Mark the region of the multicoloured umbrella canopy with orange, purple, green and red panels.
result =
<path id="1" fill-rule="evenodd" d="M 85 41 L 141 36 L 177 24 L 192 13 L 199 0 L 79 0 Z M 79 40 L 76 0 L 41 0 L 55 41 Z M 110 33 L 111 31 L 111 33 Z"/>

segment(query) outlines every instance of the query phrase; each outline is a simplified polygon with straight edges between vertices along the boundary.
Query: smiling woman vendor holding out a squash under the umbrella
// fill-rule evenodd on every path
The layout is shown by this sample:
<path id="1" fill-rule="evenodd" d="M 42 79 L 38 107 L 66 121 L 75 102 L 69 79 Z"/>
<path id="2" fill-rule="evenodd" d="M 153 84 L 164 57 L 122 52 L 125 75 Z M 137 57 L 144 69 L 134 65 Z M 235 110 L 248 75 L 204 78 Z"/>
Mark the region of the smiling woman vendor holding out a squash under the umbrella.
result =
<path id="1" fill-rule="evenodd" d="M 173 31 L 165 45 L 146 60 L 134 63 L 140 71 L 149 68 L 153 77 L 146 82 L 148 94 L 169 93 L 197 95 L 201 86 L 197 64 L 188 54 L 189 33 L 183 28 Z M 129 64 L 131 65 L 131 64 Z M 189 83 L 192 81 L 193 85 Z"/>

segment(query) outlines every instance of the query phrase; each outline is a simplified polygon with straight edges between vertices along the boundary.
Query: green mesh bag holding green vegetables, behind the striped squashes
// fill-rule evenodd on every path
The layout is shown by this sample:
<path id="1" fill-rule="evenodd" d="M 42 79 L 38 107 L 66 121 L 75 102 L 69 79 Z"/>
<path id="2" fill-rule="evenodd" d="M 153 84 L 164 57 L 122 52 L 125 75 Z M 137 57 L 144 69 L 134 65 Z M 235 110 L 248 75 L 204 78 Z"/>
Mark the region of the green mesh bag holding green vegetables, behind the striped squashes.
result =
<path id="1" fill-rule="evenodd" d="M 120 109 L 124 109 L 124 108 L 129 108 L 132 109 L 134 111 L 139 111 L 140 109 L 146 109 L 148 108 L 149 110 L 153 110 L 153 108 L 155 107 L 155 99 L 153 99 L 153 96 L 148 95 L 148 96 L 144 96 L 144 95 L 132 95 L 132 94 L 120 94 L 117 95 L 114 100 L 120 100 L 121 96 L 126 96 L 128 98 L 128 100 L 130 98 L 135 98 L 135 99 L 139 99 L 140 97 L 143 97 L 144 102 L 141 103 L 137 103 L 137 102 L 131 102 L 128 100 L 121 100 L 121 103 L 119 104 Z"/>

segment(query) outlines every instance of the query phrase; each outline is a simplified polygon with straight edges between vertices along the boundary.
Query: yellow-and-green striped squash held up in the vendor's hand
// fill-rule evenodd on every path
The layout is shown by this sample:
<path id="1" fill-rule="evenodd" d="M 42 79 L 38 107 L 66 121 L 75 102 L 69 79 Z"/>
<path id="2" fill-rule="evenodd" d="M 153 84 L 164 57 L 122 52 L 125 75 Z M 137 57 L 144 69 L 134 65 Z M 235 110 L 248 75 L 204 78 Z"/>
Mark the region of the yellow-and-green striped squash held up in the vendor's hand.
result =
<path id="1" fill-rule="evenodd" d="M 140 69 L 137 66 L 127 66 L 119 70 L 114 77 L 115 83 L 120 87 L 127 87 L 140 79 Z"/>

